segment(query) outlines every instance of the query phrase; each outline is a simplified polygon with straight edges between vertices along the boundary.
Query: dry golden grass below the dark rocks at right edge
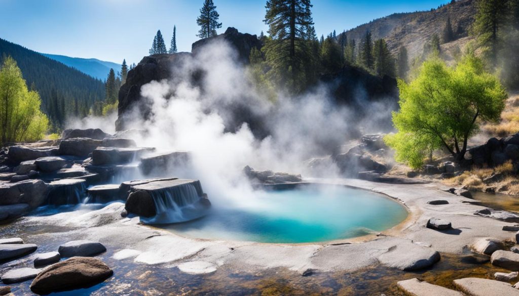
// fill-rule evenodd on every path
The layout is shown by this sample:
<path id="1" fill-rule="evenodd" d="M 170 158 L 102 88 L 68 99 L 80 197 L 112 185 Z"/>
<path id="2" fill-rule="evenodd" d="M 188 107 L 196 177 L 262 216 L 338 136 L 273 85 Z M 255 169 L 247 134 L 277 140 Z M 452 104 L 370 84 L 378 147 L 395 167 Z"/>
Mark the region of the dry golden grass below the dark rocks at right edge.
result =
<path id="1" fill-rule="evenodd" d="M 454 178 L 443 182 L 451 186 L 464 186 L 468 190 L 485 191 L 493 189 L 495 192 L 519 194 L 519 179 L 512 163 L 508 162 L 494 168 L 473 168 Z"/>

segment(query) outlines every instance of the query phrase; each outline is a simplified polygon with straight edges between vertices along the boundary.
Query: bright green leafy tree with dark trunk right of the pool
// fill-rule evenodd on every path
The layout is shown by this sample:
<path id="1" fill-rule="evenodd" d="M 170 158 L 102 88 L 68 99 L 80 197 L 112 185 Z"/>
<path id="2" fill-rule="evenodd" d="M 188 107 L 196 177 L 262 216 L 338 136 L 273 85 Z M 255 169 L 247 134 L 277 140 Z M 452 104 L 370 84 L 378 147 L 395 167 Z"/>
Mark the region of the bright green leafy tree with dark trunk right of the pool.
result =
<path id="1" fill-rule="evenodd" d="M 500 82 L 469 54 L 453 68 L 439 58 L 422 65 L 415 80 L 399 79 L 400 110 L 393 112 L 397 134 L 386 136 L 395 159 L 414 168 L 433 149 L 445 148 L 456 161 L 465 159 L 467 141 L 479 121 L 497 121 L 507 98 Z"/>

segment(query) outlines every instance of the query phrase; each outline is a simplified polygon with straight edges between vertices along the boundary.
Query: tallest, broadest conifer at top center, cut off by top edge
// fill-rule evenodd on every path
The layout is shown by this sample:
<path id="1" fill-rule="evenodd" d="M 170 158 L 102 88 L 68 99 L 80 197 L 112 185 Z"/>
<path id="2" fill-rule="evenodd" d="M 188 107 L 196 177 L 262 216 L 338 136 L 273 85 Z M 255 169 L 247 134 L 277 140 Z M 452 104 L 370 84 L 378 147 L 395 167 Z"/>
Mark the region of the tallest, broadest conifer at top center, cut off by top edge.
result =
<path id="1" fill-rule="evenodd" d="M 269 76 L 289 91 L 301 92 L 316 79 L 305 71 L 316 62 L 308 42 L 313 25 L 310 0 L 268 0 L 265 7 L 271 37 L 265 44 Z"/>

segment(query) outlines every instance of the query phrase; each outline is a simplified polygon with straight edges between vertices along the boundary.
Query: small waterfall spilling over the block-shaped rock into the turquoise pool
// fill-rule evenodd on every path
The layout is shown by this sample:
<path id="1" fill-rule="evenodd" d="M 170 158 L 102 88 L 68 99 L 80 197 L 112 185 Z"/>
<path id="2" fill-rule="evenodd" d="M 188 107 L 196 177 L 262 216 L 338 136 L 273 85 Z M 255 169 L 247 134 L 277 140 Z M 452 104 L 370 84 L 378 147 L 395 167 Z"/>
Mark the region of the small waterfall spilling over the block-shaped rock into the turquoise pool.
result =
<path id="1" fill-rule="evenodd" d="M 141 221 L 149 224 L 165 224 L 200 218 L 206 215 L 207 211 L 207 208 L 200 203 L 200 192 L 202 192 L 200 182 L 150 191 L 157 215 L 151 218 L 141 217 Z"/>

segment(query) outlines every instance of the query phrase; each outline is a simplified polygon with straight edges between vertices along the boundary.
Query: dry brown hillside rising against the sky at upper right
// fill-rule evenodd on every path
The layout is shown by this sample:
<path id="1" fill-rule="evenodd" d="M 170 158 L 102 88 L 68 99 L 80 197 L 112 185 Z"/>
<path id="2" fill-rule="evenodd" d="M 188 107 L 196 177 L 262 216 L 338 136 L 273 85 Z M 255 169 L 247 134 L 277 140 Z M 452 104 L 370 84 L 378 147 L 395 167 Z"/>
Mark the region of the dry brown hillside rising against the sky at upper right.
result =
<path id="1" fill-rule="evenodd" d="M 411 60 L 422 53 L 424 44 L 433 34 L 441 37 L 448 16 L 457 38 L 467 37 L 475 12 L 475 0 L 458 0 L 431 11 L 395 13 L 360 25 L 347 31 L 346 35 L 348 39 L 353 38 L 360 44 L 369 30 L 373 40 L 385 38 L 393 54 L 396 54 L 401 46 L 405 46 Z M 460 41 L 463 43 L 458 46 L 462 48 L 469 40 L 470 38 L 462 38 Z"/>

